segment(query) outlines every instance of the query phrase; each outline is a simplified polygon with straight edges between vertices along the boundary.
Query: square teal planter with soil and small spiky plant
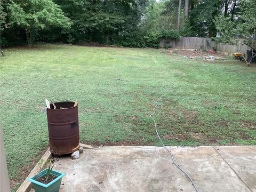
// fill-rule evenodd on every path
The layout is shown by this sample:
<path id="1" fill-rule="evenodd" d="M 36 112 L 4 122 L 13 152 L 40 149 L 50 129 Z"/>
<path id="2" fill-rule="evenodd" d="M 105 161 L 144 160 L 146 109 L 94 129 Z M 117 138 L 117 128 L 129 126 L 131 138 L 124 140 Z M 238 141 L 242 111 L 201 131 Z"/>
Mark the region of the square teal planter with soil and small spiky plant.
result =
<path id="1" fill-rule="evenodd" d="M 53 165 L 52 165 L 53 167 Z M 51 165 L 48 168 L 36 174 L 28 180 L 32 182 L 36 192 L 58 192 L 61 185 L 61 178 L 64 173 L 52 170 Z"/>

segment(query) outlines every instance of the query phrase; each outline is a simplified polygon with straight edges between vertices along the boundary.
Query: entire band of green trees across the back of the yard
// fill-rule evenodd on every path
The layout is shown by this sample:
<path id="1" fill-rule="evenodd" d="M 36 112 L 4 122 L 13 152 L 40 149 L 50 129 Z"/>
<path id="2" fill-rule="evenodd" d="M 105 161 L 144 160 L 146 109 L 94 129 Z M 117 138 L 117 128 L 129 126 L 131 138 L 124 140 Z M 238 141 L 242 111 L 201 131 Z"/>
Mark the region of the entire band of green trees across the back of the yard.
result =
<path id="1" fill-rule="evenodd" d="M 254 1 L 2 0 L 1 46 L 35 40 L 157 47 L 159 39 L 179 36 L 212 37 L 225 43 L 239 37 L 252 45 Z"/>

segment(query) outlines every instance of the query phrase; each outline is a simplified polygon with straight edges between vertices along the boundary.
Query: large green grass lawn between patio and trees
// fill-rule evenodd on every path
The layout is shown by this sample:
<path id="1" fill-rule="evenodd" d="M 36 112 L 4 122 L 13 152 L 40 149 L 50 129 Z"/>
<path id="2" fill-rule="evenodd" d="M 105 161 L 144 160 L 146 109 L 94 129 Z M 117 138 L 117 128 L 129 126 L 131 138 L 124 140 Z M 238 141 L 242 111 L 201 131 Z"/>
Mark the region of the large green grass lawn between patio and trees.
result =
<path id="1" fill-rule="evenodd" d="M 48 145 L 46 98 L 78 100 L 81 142 L 159 145 L 149 115 L 172 87 L 154 116 L 166 145 L 256 145 L 255 72 L 237 60 L 195 61 L 165 50 L 6 49 L 0 113 L 13 190 Z"/>

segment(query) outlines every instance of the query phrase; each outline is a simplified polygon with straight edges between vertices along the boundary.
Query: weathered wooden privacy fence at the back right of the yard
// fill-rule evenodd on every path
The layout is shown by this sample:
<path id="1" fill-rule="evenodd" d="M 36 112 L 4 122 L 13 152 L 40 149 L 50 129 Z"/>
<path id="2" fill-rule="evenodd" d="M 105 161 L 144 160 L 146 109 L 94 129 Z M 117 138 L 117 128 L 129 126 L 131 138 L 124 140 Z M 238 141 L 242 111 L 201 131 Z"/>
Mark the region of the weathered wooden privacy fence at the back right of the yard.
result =
<path id="1" fill-rule="evenodd" d="M 241 51 L 247 57 L 246 51 L 250 49 L 249 46 L 243 44 L 243 39 L 239 39 L 237 45 L 230 45 L 225 43 L 216 43 L 208 37 L 180 37 L 179 40 L 162 39 L 159 42 L 160 47 L 169 46 L 177 49 L 198 49 L 209 50 L 216 49 L 217 51 L 234 53 Z"/>

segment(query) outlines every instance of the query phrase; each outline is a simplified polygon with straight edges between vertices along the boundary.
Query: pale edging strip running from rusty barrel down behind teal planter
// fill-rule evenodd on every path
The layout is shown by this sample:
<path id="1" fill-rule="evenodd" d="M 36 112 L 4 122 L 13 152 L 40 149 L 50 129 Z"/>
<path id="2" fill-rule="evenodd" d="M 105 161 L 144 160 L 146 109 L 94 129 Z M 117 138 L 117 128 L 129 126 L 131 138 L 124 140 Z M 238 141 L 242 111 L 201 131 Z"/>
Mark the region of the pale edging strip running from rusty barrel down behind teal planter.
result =
<path id="1" fill-rule="evenodd" d="M 28 174 L 28 177 L 23 181 L 21 186 L 16 192 L 29 192 L 32 188 L 32 183 L 28 181 L 30 177 L 33 177 L 35 174 L 37 174 L 39 171 L 43 170 L 43 167 L 47 164 L 47 161 L 52 157 L 52 153 L 50 151 L 50 148 L 48 148 L 44 155 L 39 159 L 34 169 Z"/>

